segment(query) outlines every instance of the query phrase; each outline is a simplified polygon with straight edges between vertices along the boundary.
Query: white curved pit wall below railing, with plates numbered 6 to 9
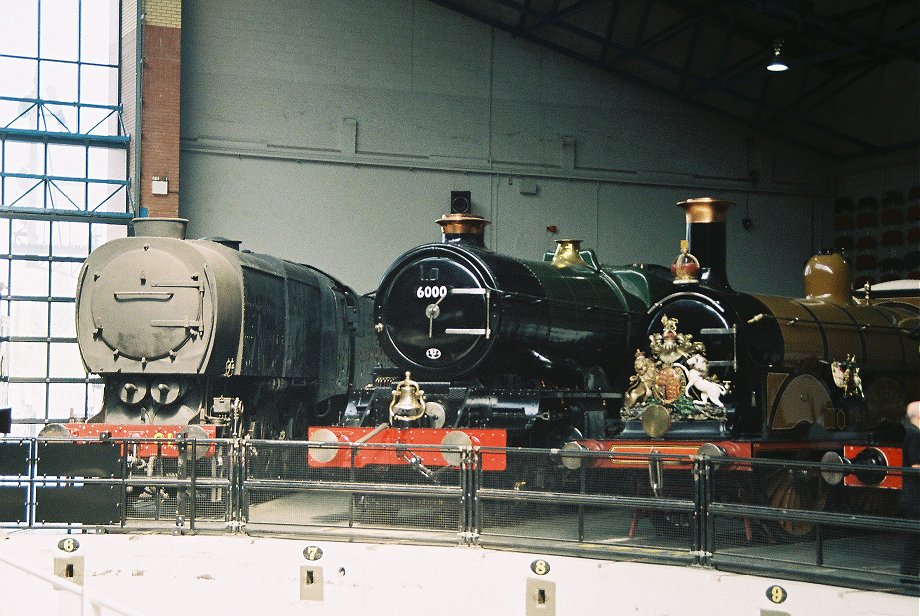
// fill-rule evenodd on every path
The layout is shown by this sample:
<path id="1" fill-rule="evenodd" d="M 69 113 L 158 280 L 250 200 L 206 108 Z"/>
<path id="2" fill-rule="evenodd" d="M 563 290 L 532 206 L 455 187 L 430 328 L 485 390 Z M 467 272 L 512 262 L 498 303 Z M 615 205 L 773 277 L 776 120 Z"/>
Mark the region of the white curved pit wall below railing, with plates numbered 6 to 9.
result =
<path id="1" fill-rule="evenodd" d="M 79 543 L 70 553 L 59 548 L 68 537 Z M 314 548 L 322 556 L 310 561 L 304 553 L 315 557 Z M 920 615 L 917 597 L 692 567 L 475 547 L 22 531 L 0 534 L 0 616 L 119 613 L 81 612 L 79 597 L 3 562 L 51 575 L 55 559 L 75 557 L 90 598 L 150 616 Z M 532 570 L 538 559 L 549 565 L 544 575 Z M 72 564 L 78 575 L 79 560 Z M 304 567 L 312 584 L 302 582 Z M 781 603 L 767 596 L 774 584 L 785 591 Z"/>

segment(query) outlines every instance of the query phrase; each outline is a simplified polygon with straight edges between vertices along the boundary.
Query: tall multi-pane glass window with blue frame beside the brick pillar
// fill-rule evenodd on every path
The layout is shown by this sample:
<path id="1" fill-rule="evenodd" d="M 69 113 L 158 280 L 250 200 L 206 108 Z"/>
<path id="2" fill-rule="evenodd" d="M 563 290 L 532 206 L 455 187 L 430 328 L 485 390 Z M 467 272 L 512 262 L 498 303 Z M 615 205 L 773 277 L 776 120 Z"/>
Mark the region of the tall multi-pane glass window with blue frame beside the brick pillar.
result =
<path id="1" fill-rule="evenodd" d="M 76 344 L 83 260 L 124 237 L 118 0 L 4 2 L 0 19 L 0 332 L 14 433 L 102 404 Z M 0 401 L 2 404 L 2 401 Z"/>

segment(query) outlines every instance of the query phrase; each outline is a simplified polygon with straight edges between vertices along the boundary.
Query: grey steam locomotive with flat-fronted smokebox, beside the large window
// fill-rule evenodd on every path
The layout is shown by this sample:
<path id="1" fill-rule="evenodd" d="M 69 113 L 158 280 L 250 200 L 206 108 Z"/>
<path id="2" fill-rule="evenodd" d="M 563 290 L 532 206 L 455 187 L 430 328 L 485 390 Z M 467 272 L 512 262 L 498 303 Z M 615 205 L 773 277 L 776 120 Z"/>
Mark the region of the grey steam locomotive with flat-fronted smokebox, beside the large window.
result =
<path id="1" fill-rule="evenodd" d="M 296 437 L 370 381 L 370 299 L 238 242 L 186 240 L 186 222 L 136 219 L 87 258 L 77 341 L 103 407 L 43 436 Z"/>

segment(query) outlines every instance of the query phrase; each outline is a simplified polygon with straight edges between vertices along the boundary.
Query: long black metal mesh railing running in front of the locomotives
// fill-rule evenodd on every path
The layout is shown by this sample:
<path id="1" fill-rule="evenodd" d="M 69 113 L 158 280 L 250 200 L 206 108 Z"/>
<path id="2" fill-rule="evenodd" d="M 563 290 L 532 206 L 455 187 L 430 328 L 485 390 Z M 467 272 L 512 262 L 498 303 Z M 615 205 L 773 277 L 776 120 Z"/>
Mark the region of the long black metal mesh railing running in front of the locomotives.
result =
<path id="1" fill-rule="evenodd" d="M 4 439 L 0 526 L 466 544 L 916 592 L 899 565 L 920 520 L 899 514 L 899 491 L 822 479 L 861 470 L 878 472 L 520 448 Z"/>

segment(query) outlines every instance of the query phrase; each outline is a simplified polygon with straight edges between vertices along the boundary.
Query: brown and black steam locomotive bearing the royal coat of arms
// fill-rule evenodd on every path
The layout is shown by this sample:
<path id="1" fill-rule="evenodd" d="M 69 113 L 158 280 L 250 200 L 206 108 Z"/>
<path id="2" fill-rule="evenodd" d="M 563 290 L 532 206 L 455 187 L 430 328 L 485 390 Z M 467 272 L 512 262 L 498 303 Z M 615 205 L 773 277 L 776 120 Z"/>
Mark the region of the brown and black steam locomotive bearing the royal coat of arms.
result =
<path id="1" fill-rule="evenodd" d="M 823 473 L 823 482 L 773 472 L 758 483 L 759 497 L 774 507 L 822 509 L 827 484 L 841 481 L 899 488 L 900 476 L 884 467 L 901 466 L 901 419 L 907 402 L 920 396 L 920 288 L 878 297 L 867 290 L 857 300 L 849 261 L 823 253 L 805 266 L 804 298 L 737 292 L 725 267 L 731 203 L 679 205 L 686 212 L 686 250 L 672 268 L 672 289 L 648 311 L 648 338 L 635 352 L 622 429 L 566 448 L 879 469 Z M 582 461 L 563 463 L 578 468 Z M 628 466 L 604 459 L 591 464 Z M 811 530 L 790 521 L 782 527 L 790 535 Z"/>

